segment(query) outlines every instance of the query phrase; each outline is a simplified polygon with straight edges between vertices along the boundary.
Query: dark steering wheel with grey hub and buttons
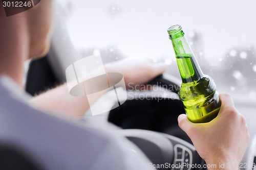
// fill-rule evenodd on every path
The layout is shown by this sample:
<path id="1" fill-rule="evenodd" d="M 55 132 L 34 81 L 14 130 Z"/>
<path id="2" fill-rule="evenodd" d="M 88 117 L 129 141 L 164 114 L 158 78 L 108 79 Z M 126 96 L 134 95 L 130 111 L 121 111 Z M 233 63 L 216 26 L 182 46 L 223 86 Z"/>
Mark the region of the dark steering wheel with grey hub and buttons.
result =
<path id="1" fill-rule="evenodd" d="M 178 116 L 185 113 L 183 104 L 177 97 L 180 81 L 163 74 L 147 84 L 162 87 L 162 93 L 167 90 L 171 94 L 169 96 L 175 97 L 160 100 L 159 96 L 163 95 L 154 95 L 155 91 L 128 91 L 128 96 L 132 95 L 132 98 L 110 111 L 109 122 L 122 128 L 118 133 L 140 148 L 152 161 L 149 164 L 151 167 L 172 170 L 206 169 L 204 160 L 198 155 L 191 140 L 178 126 Z M 159 91 L 156 93 L 161 94 Z M 138 97 L 142 96 L 140 94 L 151 94 L 151 98 L 142 99 Z"/>

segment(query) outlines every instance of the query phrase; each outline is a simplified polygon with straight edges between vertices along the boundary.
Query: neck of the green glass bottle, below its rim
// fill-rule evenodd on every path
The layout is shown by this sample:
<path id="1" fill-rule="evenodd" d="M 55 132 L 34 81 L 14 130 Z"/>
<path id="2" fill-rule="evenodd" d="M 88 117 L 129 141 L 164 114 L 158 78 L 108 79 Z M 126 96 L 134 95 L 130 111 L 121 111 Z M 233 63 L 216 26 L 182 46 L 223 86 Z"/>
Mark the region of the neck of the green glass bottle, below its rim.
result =
<path id="1" fill-rule="evenodd" d="M 182 83 L 200 80 L 204 74 L 184 36 L 170 38 L 173 43 Z"/>

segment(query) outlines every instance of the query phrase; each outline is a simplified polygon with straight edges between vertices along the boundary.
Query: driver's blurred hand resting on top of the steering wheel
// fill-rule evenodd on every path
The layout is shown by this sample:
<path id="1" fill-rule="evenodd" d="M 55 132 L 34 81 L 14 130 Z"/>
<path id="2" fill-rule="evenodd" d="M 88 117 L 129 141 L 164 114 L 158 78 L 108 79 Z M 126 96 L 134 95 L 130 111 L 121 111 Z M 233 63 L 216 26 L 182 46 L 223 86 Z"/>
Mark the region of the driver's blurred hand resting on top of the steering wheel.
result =
<path id="1" fill-rule="evenodd" d="M 105 65 L 106 72 L 119 72 L 123 75 L 126 86 L 141 85 L 163 74 L 165 65 L 154 63 L 150 58 L 124 59 Z"/>

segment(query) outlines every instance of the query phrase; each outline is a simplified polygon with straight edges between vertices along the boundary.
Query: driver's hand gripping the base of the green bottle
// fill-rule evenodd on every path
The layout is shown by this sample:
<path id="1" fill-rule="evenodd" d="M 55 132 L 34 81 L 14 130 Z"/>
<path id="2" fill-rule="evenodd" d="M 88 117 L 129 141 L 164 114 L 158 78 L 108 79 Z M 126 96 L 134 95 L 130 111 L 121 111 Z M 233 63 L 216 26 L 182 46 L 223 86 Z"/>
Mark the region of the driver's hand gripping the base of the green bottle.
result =
<path id="1" fill-rule="evenodd" d="M 250 140 L 247 125 L 228 94 L 220 94 L 220 100 L 220 112 L 211 122 L 194 124 L 185 114 L 181 114 L 178 117 L 179 126 L 207 164 L 216 164 L 218 169 L 220 163 L 232 163 L 239 169 L 238 164 Z"/>

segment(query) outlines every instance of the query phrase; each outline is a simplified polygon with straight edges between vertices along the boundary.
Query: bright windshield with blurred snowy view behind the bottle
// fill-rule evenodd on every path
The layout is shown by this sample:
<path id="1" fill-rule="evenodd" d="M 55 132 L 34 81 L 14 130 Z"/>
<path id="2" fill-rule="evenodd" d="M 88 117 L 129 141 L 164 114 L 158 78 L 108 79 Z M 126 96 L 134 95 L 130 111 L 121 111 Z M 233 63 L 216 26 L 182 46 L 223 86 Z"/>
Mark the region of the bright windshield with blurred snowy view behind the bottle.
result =
<path id="1" fill-rule="evenodd" d="M 256 101 L 255 1 L 59 1 L 71 40 L 82 57 L 104 62 L 150 57 L 180 78 L 167 28 L 179 24 L 217 90 L 236 103 Z M 184 3 L 185 2 L 185 3 Z"/>

